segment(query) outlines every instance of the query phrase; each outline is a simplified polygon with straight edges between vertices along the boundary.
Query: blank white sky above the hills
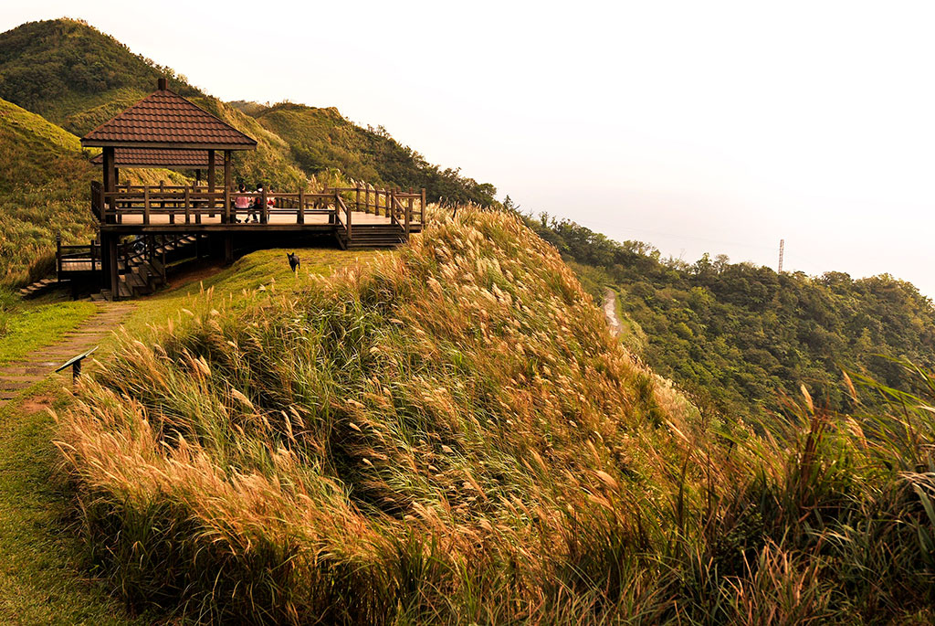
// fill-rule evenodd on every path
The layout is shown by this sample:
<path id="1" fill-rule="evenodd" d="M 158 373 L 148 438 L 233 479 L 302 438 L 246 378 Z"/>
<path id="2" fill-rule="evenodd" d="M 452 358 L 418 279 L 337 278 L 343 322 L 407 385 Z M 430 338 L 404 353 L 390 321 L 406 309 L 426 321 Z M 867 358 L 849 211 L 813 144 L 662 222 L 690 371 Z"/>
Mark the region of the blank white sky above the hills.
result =
<path id="1" fill-rule="evenodd" d="M 935 296 L 935 3 L 32 0 L 225 100 L 338 107 L 613 239 Z"/>

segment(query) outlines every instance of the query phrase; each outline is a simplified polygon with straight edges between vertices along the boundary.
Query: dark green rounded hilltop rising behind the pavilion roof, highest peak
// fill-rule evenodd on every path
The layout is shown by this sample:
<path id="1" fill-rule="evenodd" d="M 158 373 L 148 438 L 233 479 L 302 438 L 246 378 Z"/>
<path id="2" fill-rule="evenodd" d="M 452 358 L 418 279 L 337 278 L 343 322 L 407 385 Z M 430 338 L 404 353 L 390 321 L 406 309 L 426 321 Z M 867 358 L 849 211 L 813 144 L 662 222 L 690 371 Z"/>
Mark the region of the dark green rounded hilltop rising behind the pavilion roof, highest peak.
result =
<path id="1" fill-rule="evenodd" d="M 0 36 L 0 97 L 77 135 L 109 118 L 71 116 L 114 101 L 132 104 L 166 75 L 181 95 L 199 94 L 184 77 L 84 22 L 27 22 Z"/>

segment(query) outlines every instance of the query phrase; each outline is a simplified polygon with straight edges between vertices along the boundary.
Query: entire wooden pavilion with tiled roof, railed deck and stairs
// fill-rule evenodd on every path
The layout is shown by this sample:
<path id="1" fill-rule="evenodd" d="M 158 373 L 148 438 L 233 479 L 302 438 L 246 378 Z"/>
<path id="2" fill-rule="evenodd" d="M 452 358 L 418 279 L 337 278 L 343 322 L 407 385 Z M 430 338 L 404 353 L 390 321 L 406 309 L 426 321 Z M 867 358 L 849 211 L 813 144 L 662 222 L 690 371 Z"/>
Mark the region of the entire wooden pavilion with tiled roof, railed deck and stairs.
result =
<path id="1" fill-rule="evenodd" d="M 331 234 L 342 248 L 391 247 L 422 230 L 424 189 L 238 192 L 232 184 L 232 154 L 256 150 L 256 140 L 169 90 L 165 79 L 151 95 L 81 138 L 81 145 L 103 150 L 93 159 L 102 167 L 102 181 L 91 185 L 99 237 L 90 247 L 59 241 L 59 279 L 95 277 L 114 299 L 148 293 L 145 287 L 151 290 L 160 274 L 165 281 L 165 255 L 179 255 L 188 244 L 198 248 L 199 241 L 218 242 L 209 248 L 223 241 L 224 257 L 231 262 L 236 238 L 255 241 L 262 234 L 275 245 L 277 233 Z M 191 185 L 127 185 L 120 183 L 126 167 L 194 170 L 197 175 Z M 207 184 L 200 181 L 202 171 L 207 171 Z M 249 209 L 235 206 L 235 198 L 244 196 Z"/>

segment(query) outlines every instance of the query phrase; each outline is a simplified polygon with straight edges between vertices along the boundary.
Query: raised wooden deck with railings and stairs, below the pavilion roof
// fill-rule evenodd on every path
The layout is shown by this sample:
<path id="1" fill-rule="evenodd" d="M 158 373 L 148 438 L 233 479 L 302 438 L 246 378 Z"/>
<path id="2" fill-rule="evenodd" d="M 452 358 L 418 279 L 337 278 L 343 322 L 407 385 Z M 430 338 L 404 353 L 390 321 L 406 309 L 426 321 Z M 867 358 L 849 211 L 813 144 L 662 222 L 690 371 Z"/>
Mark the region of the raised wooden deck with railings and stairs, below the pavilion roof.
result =
<path id="1" fill-rule="evenodd" d="M 280 245 L 277 233 L 282 245 L 308 233 L 333 236 L 343 249 L 393 248 L 422 231 L 425 207 L 424 190 L 364 187 L 247 193 L 161 184 L 105 191 L 92 182 L 91 196 L 98 239 L 62 245 L 58 238 L 58 281 L 100 284 L 111 298 L 152 293 L 172 263 L 221 250 L 233 263 L 236 247 Z"/>

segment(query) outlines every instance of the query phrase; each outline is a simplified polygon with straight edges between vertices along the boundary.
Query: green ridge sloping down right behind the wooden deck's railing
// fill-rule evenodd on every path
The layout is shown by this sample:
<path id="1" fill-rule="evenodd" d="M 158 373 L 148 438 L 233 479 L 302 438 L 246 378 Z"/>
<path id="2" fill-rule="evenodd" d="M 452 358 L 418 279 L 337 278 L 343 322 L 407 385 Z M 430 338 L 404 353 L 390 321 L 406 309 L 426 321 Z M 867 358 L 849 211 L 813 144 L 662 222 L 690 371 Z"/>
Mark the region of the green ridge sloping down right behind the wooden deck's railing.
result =
<path id="1" fill-rule="evenodd" d="M 338 168 L 358 181 L 378 186 L 425 187 L 432 201 L 496 202 L 496 188 L 426 162 L 385 130 L 364 129 L 346 120 L 338 109 L 315 109 L 290 103 L 258 109 L 252 103 L 239 107 L 252 111 L 264 127 L 289 144 L 295 162 L 309 174 Z"/>

